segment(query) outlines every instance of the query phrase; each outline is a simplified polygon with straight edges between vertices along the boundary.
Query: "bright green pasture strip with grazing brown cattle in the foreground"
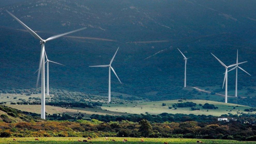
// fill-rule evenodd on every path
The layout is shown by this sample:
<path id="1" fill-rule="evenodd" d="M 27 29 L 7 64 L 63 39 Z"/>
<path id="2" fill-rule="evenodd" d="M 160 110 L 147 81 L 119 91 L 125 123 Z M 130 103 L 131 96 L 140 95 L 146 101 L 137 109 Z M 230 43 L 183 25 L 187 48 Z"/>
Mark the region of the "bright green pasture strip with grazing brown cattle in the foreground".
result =
<path id="1" fill-rule="evenodd" d="M 1 138 L 1 143 L 80 143 L 78 142 L 78 139 L 86 140 L 86 138 L 79 138 L 79 137 L 43 137 L 39 138 L 39 141 L 35 141 L 35 138 L 16 138 L 16 141 L 13 141 L 13 138 Z M 111 141 L 112 139 L 115 140 L 115 142 Z M 124 138 L 117 138 L 117 137 L 109 137 L 108 140 L 105 138 L 95 138 L 91 141 L 92 143 L 97 144 L 110 144 L 110 143 L 124 143 Z M 242 144 L 253 144 L 255 142 L 245 142 L 245 141 L 235 141 L 235 140 L 212 140 L 212 139 L 180 139 L 180 138 L 143 138 L 144 142 L 140 142 L 141 138 L 125 138 L 128 141 L 128 143 L 145 143 L 145 144 L 163 144 L 164 142 L 168 143 L 197 143 L 197 140 L 202 141 L 203 143 L 209 143 L 209 144 L 217 144 L 217 143 L 227 143 L 227 144 L 236 144 L 236 143 L 242 143 Z"/>

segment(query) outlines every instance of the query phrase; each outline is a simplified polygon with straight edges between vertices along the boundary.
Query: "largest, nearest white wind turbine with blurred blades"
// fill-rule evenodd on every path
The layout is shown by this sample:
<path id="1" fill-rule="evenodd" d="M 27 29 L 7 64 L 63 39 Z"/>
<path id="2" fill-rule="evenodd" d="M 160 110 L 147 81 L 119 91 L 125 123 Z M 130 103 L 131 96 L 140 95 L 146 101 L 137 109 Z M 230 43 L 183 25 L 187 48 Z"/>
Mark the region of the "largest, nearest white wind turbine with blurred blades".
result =
<path id="1" fill-rule="evenodd" d="M 46 40 L 43 40 L 39 35 L 37 35 L 34 31 L 32 31 L 32 29 L 30 29 L 28 26 L 26 26 L 21 20 L 19 20 L 17 17 L 15 17 L 12 13 L 10 13 L 7 10 L 6 10 L 6 12 L 9 13 L 15 20 L 17 20 L 32 36 L 34 36 L 36 39 L 40 40 L 41 54 L 40 54 L 40 62 L 39 62 L 39 69 L 38 69 L 38 74 L 37 74 L 36 87 L 38 86 L 40 72 L 42 72 L 42 74 L 41 74 L 41 94 L 42 94 L 42 96 L 41 96 L 41 118 L 45 119 L 44 43 L 46 43 L 50 40 L 57 39 L 59 37 L 67 35 L 67 34 L 81 31 L 83 29 L 86 29 L 86 27 L 80 28 L 80 29 L 77 29 L 77 30 L 74 30 L 71 32 L 63 33 L 63 34 L 54 35 L 54 36 L 49 37 Z"/>

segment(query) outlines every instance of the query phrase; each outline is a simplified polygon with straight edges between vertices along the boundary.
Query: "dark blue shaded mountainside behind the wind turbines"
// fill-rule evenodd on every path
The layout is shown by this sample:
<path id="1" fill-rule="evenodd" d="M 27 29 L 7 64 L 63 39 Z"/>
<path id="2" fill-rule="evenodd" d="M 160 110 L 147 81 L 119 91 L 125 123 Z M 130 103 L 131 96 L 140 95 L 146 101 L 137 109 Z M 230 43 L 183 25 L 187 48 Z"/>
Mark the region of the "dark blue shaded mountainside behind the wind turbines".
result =
<path id="1" fill-rule="evenodd" d="M 89 65 L 108 64 L 120 47 L 112 66 L 123 82 L 111 75 L 113 92 L 151 100 L 195 98 L 183 89 L 187 57 L 187 85 L 220 89 L 224 67 L 239 62 L 250 77 L 239 71 L 243 97 L 255 95 L 255 1 L 139 0 L 139 1 L 20 1 L 0 8 L 0 88 L 34 88 L 40 45 L 12 19 L 9 10 L 42 38 L 81 27 L 84 31 L 46 43 L 50 60 L 50 87 L 107 93 L 107 69 Z M 235 73 L 229 73 L 234 90 Z M 233 101 L 232 101 L 233 102 Z M 241 103 L 243 104 L 243 103 Z M 255 106 L 251 104 L 250 106 Z"/>

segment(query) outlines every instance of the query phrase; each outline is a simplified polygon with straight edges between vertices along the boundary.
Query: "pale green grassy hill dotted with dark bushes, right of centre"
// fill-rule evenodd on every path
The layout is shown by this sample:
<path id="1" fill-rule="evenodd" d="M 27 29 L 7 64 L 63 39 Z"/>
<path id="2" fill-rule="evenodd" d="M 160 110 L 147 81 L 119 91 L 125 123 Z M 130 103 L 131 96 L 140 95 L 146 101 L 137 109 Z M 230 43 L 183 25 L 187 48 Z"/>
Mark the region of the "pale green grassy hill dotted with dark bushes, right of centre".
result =
<path id="1" fill-rule="evenodd" d="M 102 108 L 109 110 L 109 111 L 116 111 L 116 112 L 127 112 L 127 113 L 146 113 L 149 114 L 160 114 L 163 112 L 167 113 L 183 113 L 183 114 L 195 114 L 195 115 L 213 115 L 213 116 L 221 116 L 223 114 L 238 114 L 241 112 L 245 112 L 244 109 L 250 108 L 244 105 L 237 105 L 237 104 L 229 104 L 229 103 L 222 103 L 222 102 L 215 102 L 215 101 L 207 101 L 207 100 L 186 100 L 183 102 L 194 102 L 197 104 L 197 107 L 200 107 L 199 104 L 204 105 L 205 103 L 214 104 L 215 106 L 219 107 L 219 109 L 203 109 L 191 111 L 189 107 L 186 108 L 177 108 L 169 109 L 169 106 L 172 106 L 174 103 L 178 103 L 178 100 L 171 100 L 171 101 L 154 101 L 154 102 L 143 102 L 143 103 L 131 103 L 131 104 L 103 104 Z M 166 103 L 166 106 L 162 106 L 162 103 Z M 236 107 L 239 106 L 239 107 Z M 236 107 L 236 109 L 233 109 Z M 255 113 L 255 112 L 254 112 Z"/>

